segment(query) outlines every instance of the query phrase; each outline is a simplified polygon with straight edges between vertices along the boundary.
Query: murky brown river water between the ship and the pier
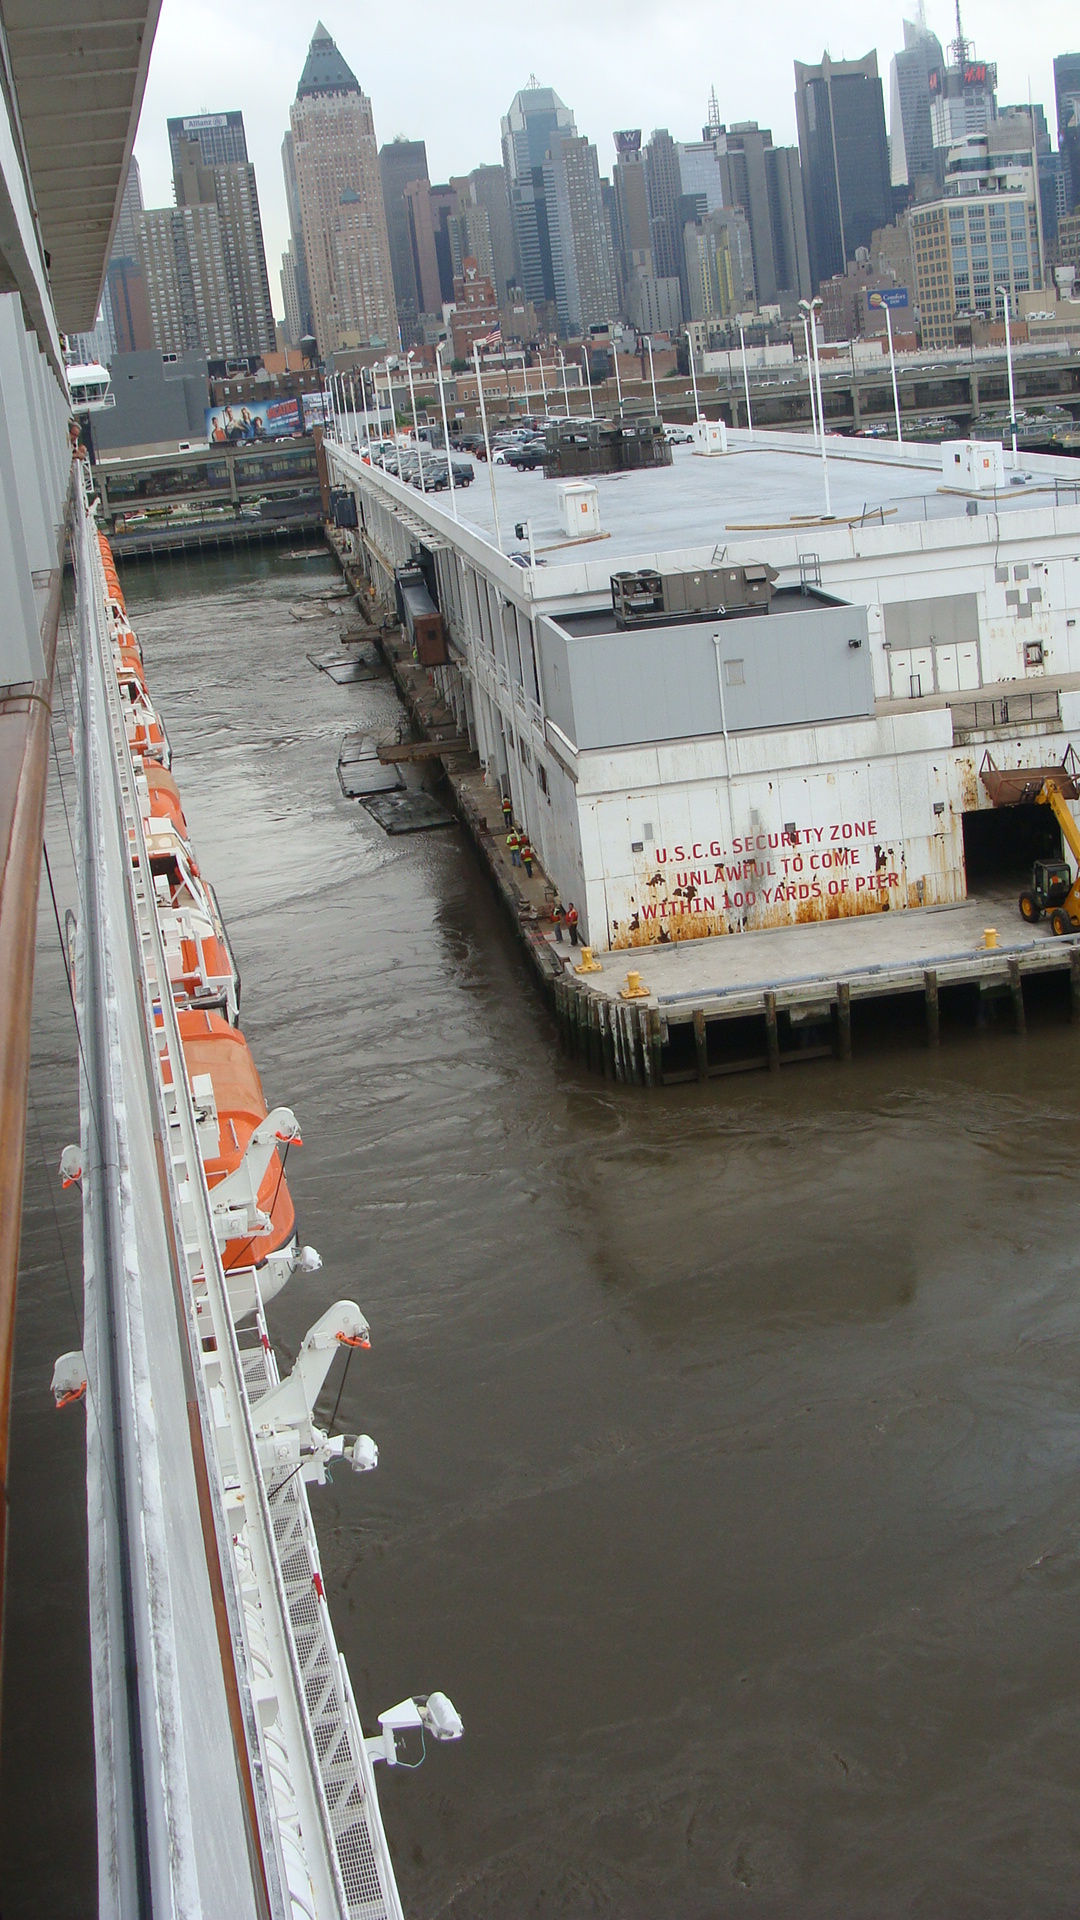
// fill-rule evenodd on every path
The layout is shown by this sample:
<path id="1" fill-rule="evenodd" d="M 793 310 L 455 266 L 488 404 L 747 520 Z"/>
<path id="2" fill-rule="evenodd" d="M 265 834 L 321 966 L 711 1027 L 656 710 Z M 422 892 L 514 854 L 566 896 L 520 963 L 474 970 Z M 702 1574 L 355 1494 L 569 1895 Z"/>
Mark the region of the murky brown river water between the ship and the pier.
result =
<path id="1" fill-rule="evenodd" d="M 611 1087 L 571 1064 L 463 831 L 388 839 L 306 655 L 329 561 L 129 568 L 288 1179 L 373 1329 L 313 1490 L 411 1920 L 1080 1910 L 1080 1035 L 878 1035 L 851 1066 Z M 60 747 L 63 753 L 63 743 Z M 48 847 L 71 902 L 54 780 Z M 38 943 L 0 1908 L 94 1910 L 75 1046 Z M 331 1377 L 336 1394 L 338 1375 Z"/>

